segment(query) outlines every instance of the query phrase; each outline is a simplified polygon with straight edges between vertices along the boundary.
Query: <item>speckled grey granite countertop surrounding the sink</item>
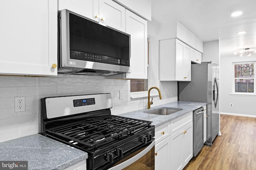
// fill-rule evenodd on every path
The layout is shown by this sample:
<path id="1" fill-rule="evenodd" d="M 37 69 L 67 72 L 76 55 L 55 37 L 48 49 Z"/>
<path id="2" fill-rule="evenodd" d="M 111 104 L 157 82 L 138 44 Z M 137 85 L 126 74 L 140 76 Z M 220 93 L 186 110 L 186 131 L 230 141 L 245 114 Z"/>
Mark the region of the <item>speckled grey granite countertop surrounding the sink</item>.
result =
<path id="1" fill-rule="evenodd" d="M 182 115 L 185 115 L 205 105 L 206 103 L 176 101 L 168 104 L 162 104 L 159 106 L 151 107 L 151 109 L 140 109 L 137 111 L 123 113 L 123 114 L 120 114 L 119 116 L 152 121 L 152 125 L 155 125 L 155 127 L 158 127 L 160 125 L 163 125 L 164 123 L 172 121 L 178 117 L 181 117 Z M 174 107 L 182 110 L 177 111 L 176 113 L 172 113 L 170 115 L 154 115 L 154 114 L 144 113 L 144 111 L 154 110 L 160 107 Z"/>

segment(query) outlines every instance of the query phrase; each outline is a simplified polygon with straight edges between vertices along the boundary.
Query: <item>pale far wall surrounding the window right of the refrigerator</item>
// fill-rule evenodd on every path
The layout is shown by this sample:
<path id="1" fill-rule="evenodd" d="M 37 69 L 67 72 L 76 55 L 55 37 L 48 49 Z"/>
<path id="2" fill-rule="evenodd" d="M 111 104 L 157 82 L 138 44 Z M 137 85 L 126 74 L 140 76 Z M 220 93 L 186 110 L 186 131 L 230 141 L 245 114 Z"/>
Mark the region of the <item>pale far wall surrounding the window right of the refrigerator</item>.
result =
<path id="1" fill-rule="evenodd" d="M 250 57 L 220 57 L 220 113 L 256 117 L 256 96 L 231 96 L 233 69 L 232 62 L 256 61 Z M 233 104 L 233 107 L 230 107 Z"/>

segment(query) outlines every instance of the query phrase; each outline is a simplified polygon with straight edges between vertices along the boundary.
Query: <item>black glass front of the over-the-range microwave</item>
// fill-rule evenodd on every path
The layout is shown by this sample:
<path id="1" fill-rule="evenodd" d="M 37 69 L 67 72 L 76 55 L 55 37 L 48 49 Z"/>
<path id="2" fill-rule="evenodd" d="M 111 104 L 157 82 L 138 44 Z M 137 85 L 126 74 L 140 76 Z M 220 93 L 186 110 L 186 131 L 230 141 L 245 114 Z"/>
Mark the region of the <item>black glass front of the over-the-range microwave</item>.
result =
<path id="1" fill-rule="evenodd" d="M 126 66 L 130 65 L 129 35 L 71 13 L 69 18 L 70 51 L 72 51 L 70 58 L 73 56 L 85 60 L 81 56 L 96 55 L 102 58 L 98 61 L 101 63 L 117 62 L 120 65 L 121 62 Z M 90 59 L 94 60 L 92 57 Z"/>

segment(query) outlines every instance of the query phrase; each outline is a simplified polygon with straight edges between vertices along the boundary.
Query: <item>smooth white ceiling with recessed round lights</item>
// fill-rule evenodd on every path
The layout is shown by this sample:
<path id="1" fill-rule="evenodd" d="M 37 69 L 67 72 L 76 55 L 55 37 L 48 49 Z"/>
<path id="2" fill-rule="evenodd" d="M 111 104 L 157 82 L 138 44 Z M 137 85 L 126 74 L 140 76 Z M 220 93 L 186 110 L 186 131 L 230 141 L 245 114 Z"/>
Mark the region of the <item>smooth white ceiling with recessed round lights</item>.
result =
<path id="1" fill-rule="evenodd" d="M 237 10 L 243 14 L 230 16 Z M 221 57 L 256 51 L 256 0 L 152 0 L 152 21 L 179 21 L 203 42 L 219 39 Z"/>

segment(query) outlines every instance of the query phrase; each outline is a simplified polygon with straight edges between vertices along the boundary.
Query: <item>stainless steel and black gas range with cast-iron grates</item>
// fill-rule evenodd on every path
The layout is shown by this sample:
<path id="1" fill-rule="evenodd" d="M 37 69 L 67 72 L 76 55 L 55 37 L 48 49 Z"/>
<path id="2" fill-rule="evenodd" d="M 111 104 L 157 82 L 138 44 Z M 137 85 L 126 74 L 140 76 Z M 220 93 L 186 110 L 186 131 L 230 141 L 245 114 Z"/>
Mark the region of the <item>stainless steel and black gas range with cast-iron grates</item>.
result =
<path id="1" fill-rule="evenodd" d="M 87 170 L 154 170 L 154 125 L 110 108 L 110 93 L 42 98 L 41 134 L 87 152 Z"/>

